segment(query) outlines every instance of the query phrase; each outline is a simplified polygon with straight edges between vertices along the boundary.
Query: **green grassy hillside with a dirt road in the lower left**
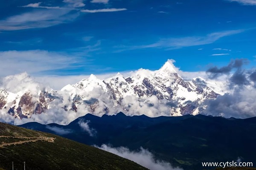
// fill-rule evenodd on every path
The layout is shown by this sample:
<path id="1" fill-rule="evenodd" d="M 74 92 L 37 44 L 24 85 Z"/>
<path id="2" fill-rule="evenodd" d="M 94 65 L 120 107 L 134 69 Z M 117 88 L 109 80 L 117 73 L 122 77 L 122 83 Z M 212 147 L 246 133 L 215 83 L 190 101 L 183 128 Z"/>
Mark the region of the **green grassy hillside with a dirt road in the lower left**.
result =
<path id="1" fill-rule="evenodd" d="M 60 136 L 0 123 L 0 170 L 145 170 L 133 161 Z"/>

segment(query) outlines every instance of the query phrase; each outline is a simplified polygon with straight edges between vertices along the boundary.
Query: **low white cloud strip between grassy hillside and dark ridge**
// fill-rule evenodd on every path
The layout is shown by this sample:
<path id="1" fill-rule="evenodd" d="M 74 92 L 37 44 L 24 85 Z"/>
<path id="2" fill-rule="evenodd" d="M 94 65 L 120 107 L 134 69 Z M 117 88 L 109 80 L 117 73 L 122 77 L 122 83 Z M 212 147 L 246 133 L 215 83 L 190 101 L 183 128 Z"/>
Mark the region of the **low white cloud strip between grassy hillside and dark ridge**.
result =
<path id="1" fill-rule="evenodd" d="M 172 165 L 166 161 L 156 160 L 151 152 L 143 148 L 140 148 L 138 152 L 131 151 L 126 147 L 113 148 L 105 144 L 98 148 L 134 161 L 150 170 L 182 170 L 178 167 L 172 167 Z"/>

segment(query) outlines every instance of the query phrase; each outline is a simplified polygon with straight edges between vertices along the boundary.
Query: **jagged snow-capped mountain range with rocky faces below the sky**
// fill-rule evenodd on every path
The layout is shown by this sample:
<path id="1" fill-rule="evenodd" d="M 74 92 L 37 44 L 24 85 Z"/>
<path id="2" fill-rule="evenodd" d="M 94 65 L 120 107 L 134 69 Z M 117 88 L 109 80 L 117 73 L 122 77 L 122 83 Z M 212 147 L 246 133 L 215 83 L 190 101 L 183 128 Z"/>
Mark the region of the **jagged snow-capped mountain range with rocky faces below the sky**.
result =
<path id="1" fill-rule="evenodd" d="M 207 82 L 201 77 L 185 81 L 171 60 L 157 71 L 140 69 L 131 77 L 118 73 L 100 80 L 92 74 L 60 91 L 44 87 L 25 73 L 20 77 L 9 82 L 9 86 L 15 83 L 15 90 L 0 89 L 0 110 L 19 119 L 47 112 L 98 116 L 119 111 L 151 117 L 196 115 L 204 111 L 205 100 L 225 92 L 219 82 Z M 24 83 L 25 87 L 17 88 Z"/>

